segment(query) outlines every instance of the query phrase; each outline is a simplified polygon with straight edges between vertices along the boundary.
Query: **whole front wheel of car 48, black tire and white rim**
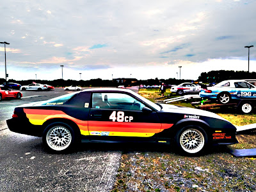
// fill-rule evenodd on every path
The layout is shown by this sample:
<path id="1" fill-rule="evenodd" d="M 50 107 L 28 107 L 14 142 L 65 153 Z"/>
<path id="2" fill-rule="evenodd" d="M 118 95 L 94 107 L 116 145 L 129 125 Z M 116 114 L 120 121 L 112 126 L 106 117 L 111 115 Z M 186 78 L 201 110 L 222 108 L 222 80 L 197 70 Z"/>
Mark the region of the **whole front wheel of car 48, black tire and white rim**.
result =
<path id="1" fill-rule="evenodd" d="M 186 156 L 198 156 L 208 143 L 207 133 L 197 125 L 187 125 L 177 131 L 175 144 L 178 152 Z"/>

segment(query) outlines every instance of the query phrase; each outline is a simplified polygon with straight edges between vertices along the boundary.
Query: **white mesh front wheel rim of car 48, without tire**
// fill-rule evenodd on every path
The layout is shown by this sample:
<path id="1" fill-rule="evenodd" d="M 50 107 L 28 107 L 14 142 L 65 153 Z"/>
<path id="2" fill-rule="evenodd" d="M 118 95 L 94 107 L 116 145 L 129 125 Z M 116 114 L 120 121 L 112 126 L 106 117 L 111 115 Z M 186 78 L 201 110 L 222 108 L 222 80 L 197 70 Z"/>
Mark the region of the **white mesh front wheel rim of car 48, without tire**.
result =
<path id="1" fill-rule="evenodd" d="M 186 129 L 180 135 L 180 146 L 190 154 L 201 151 L 204 145 L 204 135 L 197 129 Z"/>

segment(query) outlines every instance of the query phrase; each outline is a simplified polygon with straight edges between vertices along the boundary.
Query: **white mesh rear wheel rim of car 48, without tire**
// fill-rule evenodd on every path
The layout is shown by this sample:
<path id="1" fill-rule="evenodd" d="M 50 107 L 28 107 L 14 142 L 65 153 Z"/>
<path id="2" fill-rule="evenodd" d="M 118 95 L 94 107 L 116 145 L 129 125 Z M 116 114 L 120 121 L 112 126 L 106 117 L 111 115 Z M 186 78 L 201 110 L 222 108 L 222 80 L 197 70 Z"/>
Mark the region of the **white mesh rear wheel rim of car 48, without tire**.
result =
<path id="1" fill-rule="evenodd" d="M 46 142 L 54 151 L 63 151 L 71 144 L 72 135 L 65 126 L 54 126 L 47 131 Z"/>

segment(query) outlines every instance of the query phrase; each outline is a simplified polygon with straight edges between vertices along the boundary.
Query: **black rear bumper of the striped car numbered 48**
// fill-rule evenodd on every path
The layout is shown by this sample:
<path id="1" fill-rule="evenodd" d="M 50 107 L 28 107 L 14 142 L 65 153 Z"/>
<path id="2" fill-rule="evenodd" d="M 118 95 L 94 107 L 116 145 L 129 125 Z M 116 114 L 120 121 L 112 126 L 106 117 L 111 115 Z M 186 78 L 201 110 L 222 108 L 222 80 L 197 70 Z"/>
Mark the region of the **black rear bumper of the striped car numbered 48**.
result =
<path id="1" fill-rule="evenodd" d="M 28 119 L 22 119 L 19 117 L 8 119 L 6 123 L 10 131 L 15 133 L 42 137 L 44 131 L 43 126 L 35 126 L 31 124 Z"/>

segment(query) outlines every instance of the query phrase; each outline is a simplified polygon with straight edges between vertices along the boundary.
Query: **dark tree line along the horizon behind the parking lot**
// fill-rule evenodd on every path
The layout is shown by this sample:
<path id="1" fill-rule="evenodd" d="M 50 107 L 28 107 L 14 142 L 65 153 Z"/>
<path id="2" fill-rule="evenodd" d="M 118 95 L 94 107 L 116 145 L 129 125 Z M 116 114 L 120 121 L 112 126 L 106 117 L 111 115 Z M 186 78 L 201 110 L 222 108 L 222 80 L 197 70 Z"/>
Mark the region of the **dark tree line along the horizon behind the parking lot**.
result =
<path id="1" fill-rule="evenodd" d="M 203 83 L 212 83 L 212 82 L 221 82 L 223 80 L 228 79 L 256 79 L 256 72 L 248 73 L 246 71 L 209 71 L 203 72 L 198 77 L 198 82 Z M 0 84 L 5 82 L 4 78 L 0 78 Z M 13 82 L 21 85 L 29 85 L 33 82 L 38 84 L 49 84 L 53 85 L 54 87 L 65 87 L 70 85 L 79 85 L 81 87 L 117 87 L 118 85 L 160 85 L 162 82 L 166 85 L 178 85 L 182 82 L 193 82 L 191 79 L 177 79 L 177 78 L 168 78 L 168 79 L 158 79 L 158 78 L 150 78 L 148 80 L 136 80 L 136 81 L 129 81 L 127 78 L 126 83 L 118 83 L 115 80 L 102 80 L 101 78 L 95 78 L 91 80 L 63 80 L 63 79 L 56 79 L 56 80 L 13 80 L 10 79 L 8 82 Z"/>

